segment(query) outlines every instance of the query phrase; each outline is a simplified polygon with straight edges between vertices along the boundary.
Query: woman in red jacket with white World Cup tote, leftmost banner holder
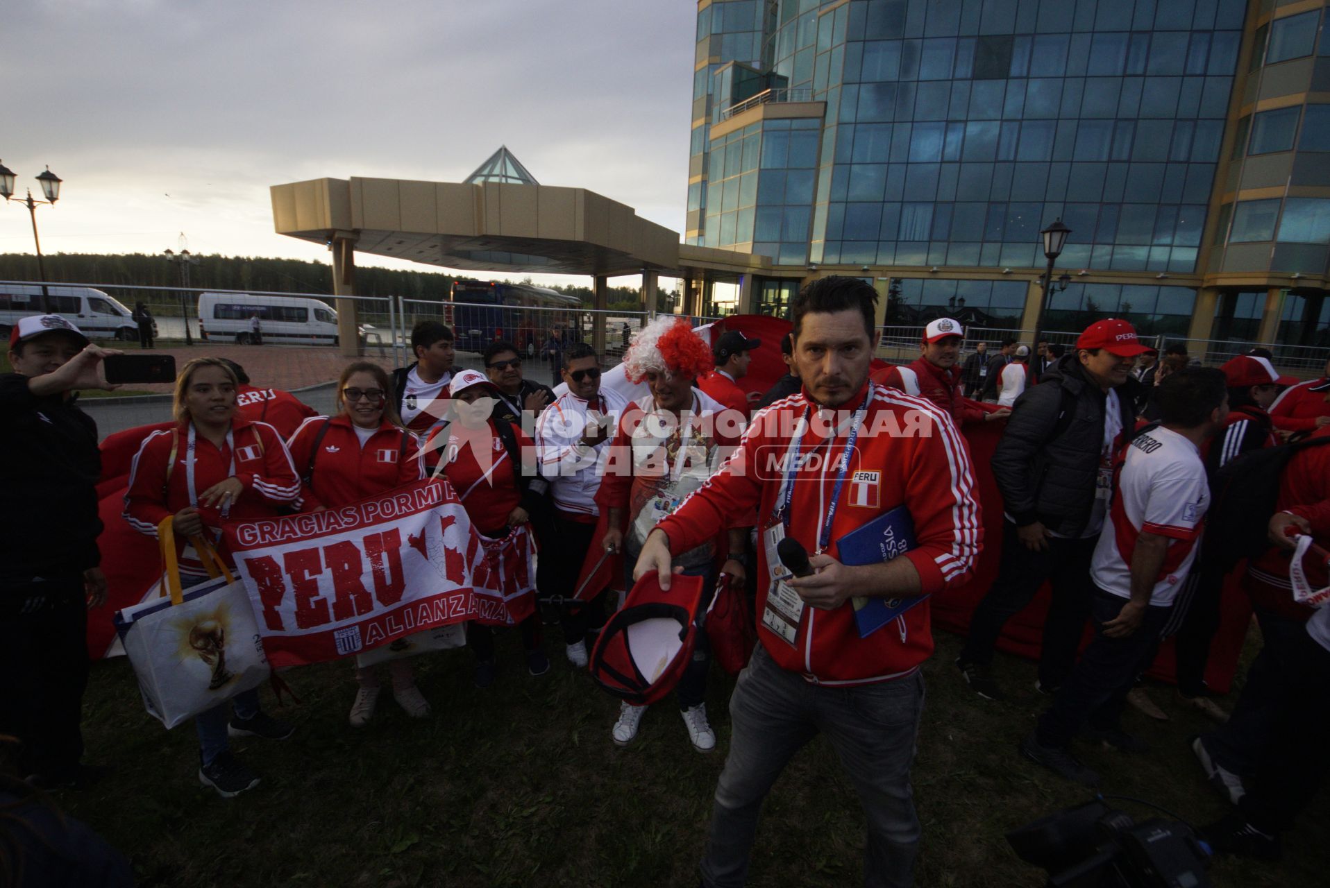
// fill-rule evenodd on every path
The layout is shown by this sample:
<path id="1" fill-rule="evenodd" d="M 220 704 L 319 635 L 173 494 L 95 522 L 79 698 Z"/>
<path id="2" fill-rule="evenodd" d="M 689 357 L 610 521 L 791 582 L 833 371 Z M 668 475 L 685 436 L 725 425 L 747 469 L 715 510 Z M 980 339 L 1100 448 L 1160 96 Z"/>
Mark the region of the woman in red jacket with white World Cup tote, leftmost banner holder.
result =
<path id="1" fill-rule="evenodd" d="M 266 518 L 290 506 L 301 493 L 291 456 L 282 437 L 266 423 L 235 415 L 235 374 L 219 358 L 194 358 L 176 378 L 177 425 L 149 435 L 129 469 L 125 520 L 156 537 L 170 517 L 186 586 L 207 580 L 186 537 L 218 541 L 222 521 Z M 227 736 L 286 739 L 291 726 L 259 710 L 258 690 L 234 698 L 194 719 L 201 767 L 198 779 L 230 798 L 258 786 L 258 776 L 237 762 Z"/>

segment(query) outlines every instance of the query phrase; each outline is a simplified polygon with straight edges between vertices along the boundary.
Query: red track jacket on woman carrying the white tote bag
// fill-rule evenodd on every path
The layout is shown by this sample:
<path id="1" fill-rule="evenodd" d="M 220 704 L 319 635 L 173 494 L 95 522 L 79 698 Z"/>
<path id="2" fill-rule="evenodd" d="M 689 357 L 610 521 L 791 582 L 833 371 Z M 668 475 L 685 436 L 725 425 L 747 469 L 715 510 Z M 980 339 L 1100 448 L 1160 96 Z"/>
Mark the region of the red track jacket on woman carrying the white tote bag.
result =
<path id="1" fill-rule="evenodd" d="M 162 518 L 190 505 L 192 492 L 186 468 L 188 441 L 189 425 L 186 424 L 153 432 L 138 447 L 138 453 L 129 469 L 125 520 L 140 533 L 156 537 L 157 525 Z M 168 472 L 173 449 L 176 460 Z M 291 455 L 286 452 L 286 444 L 282 443 L 277 429 L 267 423 L 250 423 L 237 416 L 231 420 L 230 445 L 223 443 L 218 448 L 198 435 L 194 443 L 194 457 L 193 499 L 231 475 L 245 485 L 225 517 L 227 521 L 273 517 L 278 514 L 278 509 L 293 505 L 299 497 L 301 480 L 291 464 Z M 231 471 L 233 457 L 234 472 Z M 222 514 L 215 508 L 205 505 L 200 505 L 198 512 L 203 524 L 213 530 L 213 538 L 218 538 Z M 177 536 L 176 549 L 180 556 L 181 573 L 196 577 L 206 576 L 202 565 L 193 557 L 193 549 L 189 548 L 186 552 L 186 540 Z"/>

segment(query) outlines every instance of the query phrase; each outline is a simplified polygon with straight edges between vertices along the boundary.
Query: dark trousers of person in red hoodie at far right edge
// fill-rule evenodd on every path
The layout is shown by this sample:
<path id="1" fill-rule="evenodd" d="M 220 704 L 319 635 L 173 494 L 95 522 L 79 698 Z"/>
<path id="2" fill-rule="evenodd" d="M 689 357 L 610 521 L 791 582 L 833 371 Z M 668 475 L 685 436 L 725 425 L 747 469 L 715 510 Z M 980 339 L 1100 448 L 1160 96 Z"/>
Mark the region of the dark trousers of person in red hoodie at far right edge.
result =
<path id="1" fill-rule="evenodd" d="M 1270 743 L 1257 760 L 1238 810 L 1262 832 L 1281 832 L 1321 786 L 1330 742 L 1330 650 L 1306 629 L 1266 641 L 1252 663 L 1242 701 L 1270 713 Z M 1220 728 L 1225 732 L 1228 726 Z"/>

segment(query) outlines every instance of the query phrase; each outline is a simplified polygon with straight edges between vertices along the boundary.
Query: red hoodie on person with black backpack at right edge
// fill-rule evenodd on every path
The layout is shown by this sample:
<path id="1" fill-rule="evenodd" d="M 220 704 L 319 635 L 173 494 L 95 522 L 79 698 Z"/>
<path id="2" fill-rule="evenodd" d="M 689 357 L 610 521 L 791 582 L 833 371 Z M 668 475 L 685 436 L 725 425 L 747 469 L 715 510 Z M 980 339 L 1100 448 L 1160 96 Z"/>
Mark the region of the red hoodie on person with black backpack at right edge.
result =
<path id="1" fill-rule="evenodd" d="M 1313 437 L 1330 437 L 1330 427 Z M 1322 548 L 1330 548 L 1330 444 L 1309 447 L 1294 453 L 1279 477 L 1279 512 L 1291 512 L 1311 524 L 1311 538 Z M 1310 556 L 1307 558 L 1310 565 Z M 1326 585 L 1323 569 L 1310 565 L 1307 580 L 1315 588 Z M 1270 546 L 1265 554 L 1248 565 L 1245 585 L 1253 604 L 1286 617 L 1306 619 L 1311 608 L 1293 601 L 1289 585 L 1289 552 Z"/>

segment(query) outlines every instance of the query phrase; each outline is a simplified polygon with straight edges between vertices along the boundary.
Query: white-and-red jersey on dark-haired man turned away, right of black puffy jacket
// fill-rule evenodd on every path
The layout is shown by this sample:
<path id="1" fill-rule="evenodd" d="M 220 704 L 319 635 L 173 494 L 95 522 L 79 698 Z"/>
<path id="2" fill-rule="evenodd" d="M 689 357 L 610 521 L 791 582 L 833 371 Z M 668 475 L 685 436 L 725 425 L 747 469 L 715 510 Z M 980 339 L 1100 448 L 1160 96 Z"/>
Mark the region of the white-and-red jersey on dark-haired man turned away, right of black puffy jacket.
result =
<path id="1" fill-rule="evenodd" d="M 1091 578 L 1104 592 L 1132 597 L 1132 553 L 1142 532 L 1168 537 L 1168 553 L 1150 604 L 1169 606 L 1196 560 L 1210 508 L 1210 485 L 1196 444 L 1160 427 L 1127 448 L 1109 509 L 1109 526 L 1099 537 Z"/>

